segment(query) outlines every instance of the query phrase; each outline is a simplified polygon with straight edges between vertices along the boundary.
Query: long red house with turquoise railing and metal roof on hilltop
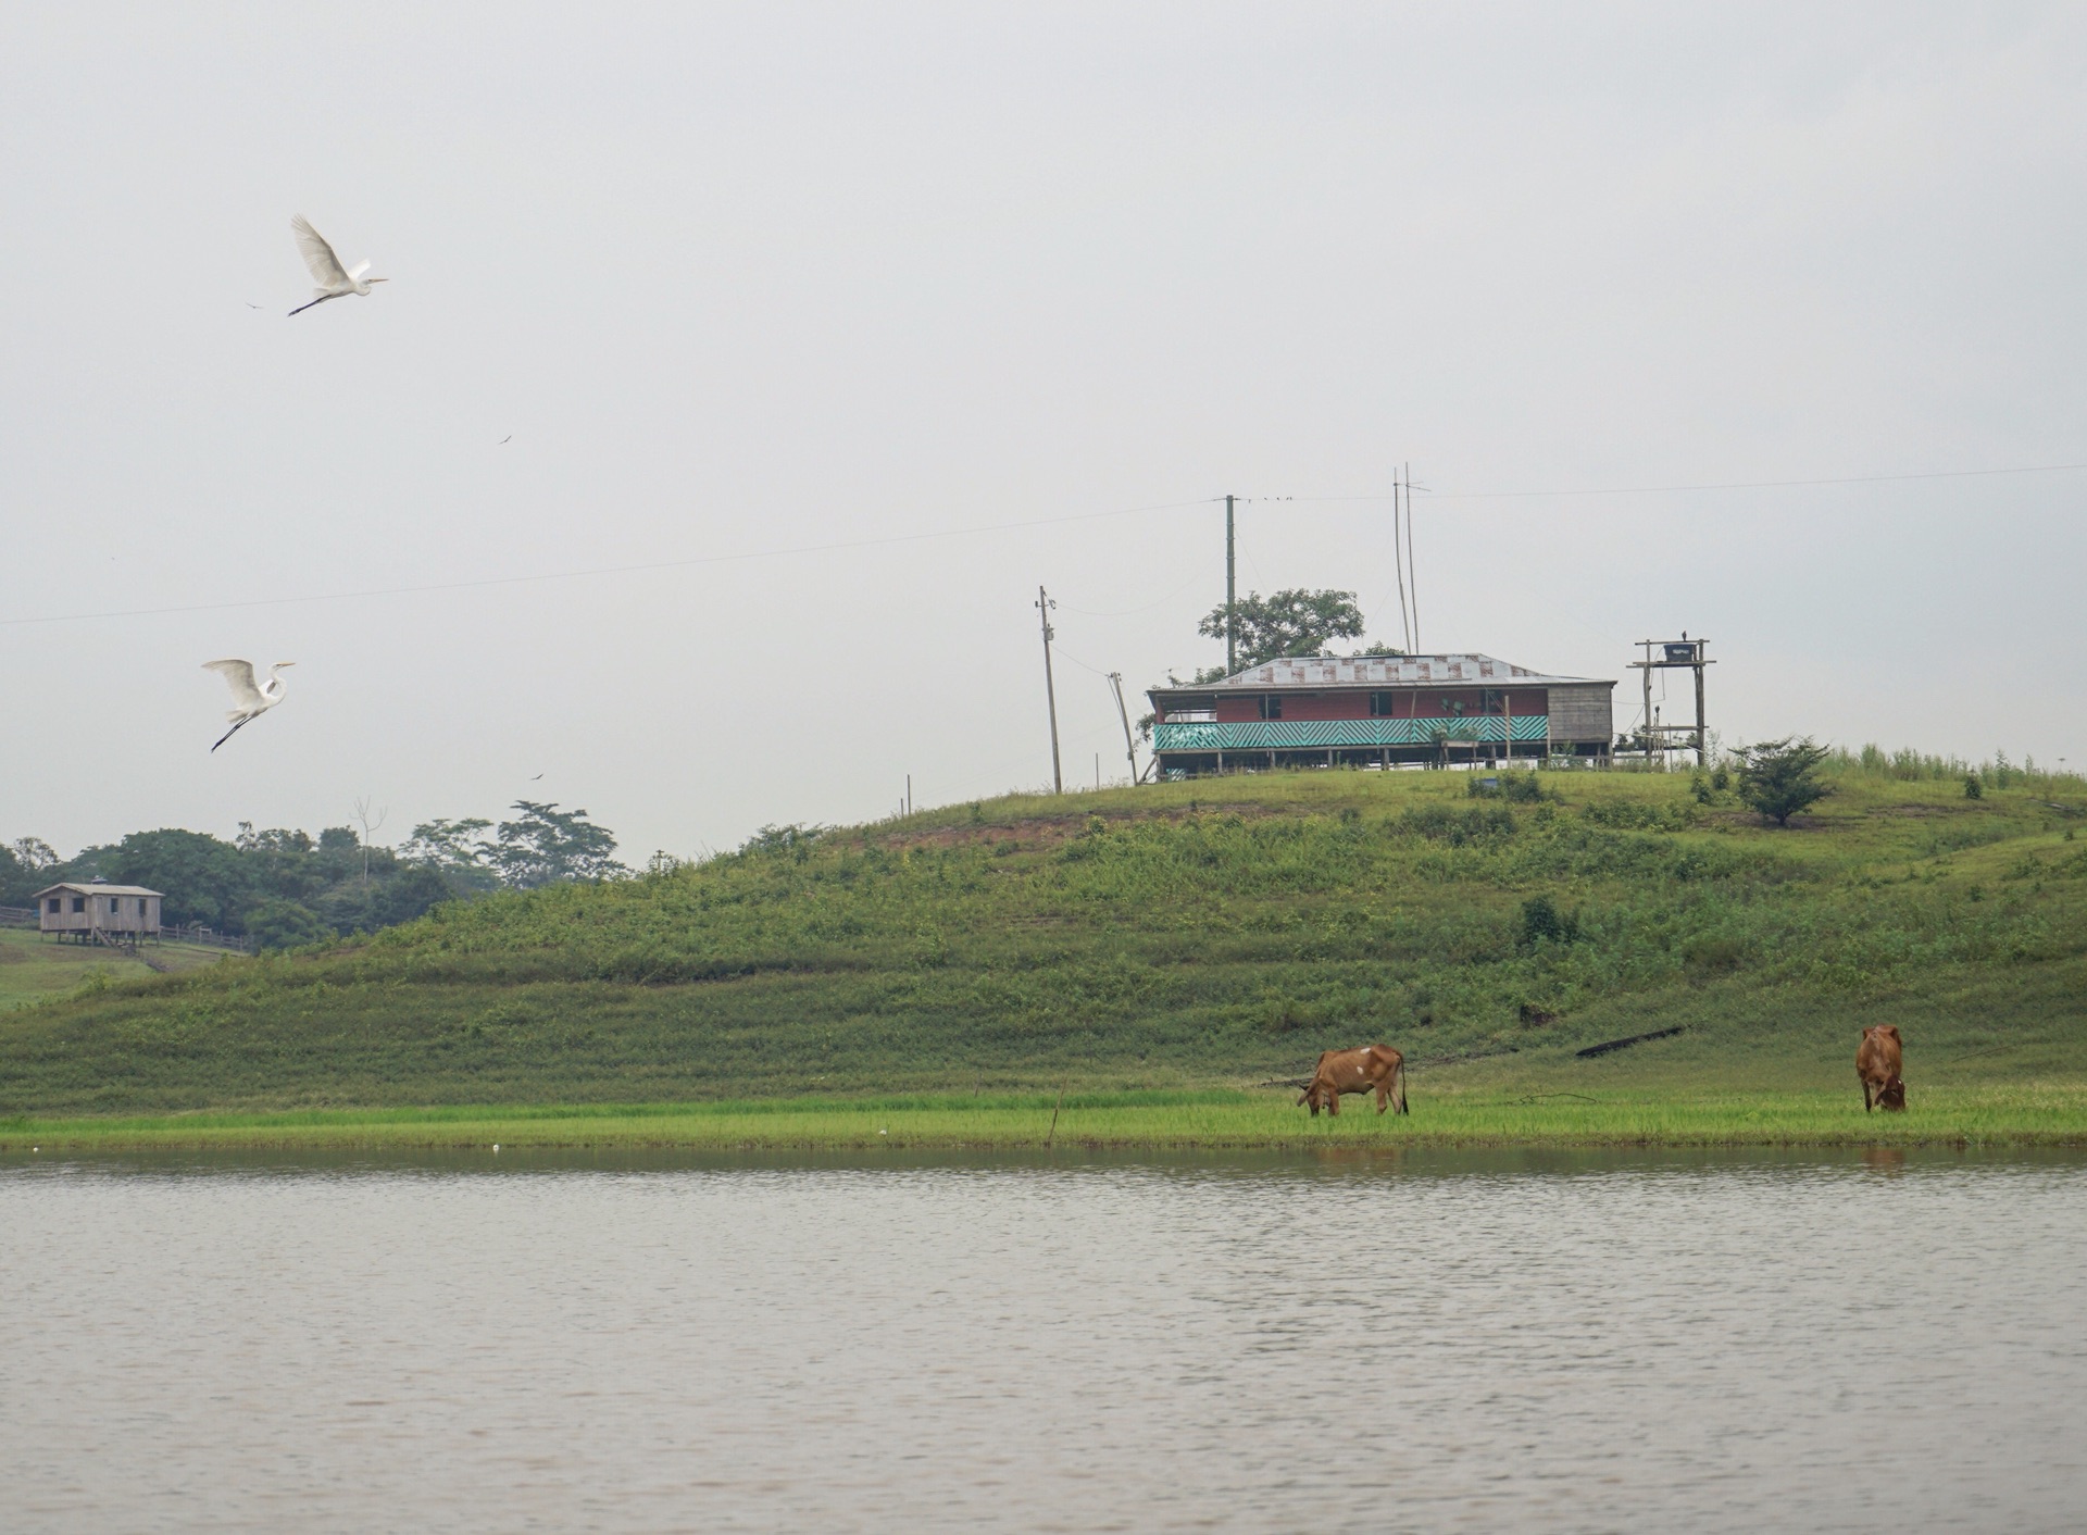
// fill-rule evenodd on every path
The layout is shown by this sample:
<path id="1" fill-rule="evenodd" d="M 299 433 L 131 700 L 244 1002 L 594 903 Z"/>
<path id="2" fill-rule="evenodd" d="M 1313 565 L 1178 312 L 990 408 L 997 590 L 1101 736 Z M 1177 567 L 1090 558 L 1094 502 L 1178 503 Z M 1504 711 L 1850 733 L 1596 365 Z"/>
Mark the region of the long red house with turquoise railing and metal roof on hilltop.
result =
<path id="1" fill-rule="evenodd" d="M 1202 687 L 1154 687 L 1162 777 L 1275 766 L 1607 758 L 1613 681 L 1492 656 L 1296 656 Z"/>

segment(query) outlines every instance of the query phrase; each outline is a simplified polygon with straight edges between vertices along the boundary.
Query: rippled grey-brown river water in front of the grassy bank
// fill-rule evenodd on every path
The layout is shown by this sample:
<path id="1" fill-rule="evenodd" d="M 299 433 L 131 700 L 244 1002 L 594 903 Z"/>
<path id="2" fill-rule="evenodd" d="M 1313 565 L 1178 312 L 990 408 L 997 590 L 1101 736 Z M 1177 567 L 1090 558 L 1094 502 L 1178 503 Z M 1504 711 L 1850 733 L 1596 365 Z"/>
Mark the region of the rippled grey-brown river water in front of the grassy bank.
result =
<path id="1" fill-rule="evenodd" d="M 2087 1157 L 0 1161 L 8 1531 L 2058 1531 Z"/>

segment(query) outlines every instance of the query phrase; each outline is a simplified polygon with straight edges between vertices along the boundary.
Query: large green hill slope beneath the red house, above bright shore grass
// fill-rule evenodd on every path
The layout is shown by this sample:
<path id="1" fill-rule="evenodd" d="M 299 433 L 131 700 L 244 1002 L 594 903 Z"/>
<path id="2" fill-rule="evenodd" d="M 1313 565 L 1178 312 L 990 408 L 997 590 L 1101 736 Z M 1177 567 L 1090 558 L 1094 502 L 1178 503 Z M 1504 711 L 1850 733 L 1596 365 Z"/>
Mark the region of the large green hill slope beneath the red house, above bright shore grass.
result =
<path id="1" fill-rule="evenodd" d="M 1684 775 L 1286 773 L 774 835 L 102 973 L 0 1013 L 0 1113 L 1210 1088 L 1365 1040 L 1438 1084 L 1853 1096 L 1872 1021 L 1914 1082 L 2087 1082 L 2087 785 L 1834 783 L 1791 829 Z"/>

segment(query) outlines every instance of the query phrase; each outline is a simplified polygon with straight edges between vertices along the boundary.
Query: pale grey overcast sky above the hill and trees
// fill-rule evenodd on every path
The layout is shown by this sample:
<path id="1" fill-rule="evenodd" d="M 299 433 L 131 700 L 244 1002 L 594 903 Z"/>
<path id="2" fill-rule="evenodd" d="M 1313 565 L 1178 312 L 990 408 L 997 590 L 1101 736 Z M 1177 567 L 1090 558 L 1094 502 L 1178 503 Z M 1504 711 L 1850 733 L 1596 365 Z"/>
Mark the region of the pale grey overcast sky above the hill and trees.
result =
<path id="1" fill-rule="evenodd" d="M 2087 766 L 2087 472 L 1624 493 L 2087 462 L 2083 75 L 2079 4 L 15 0 L 0 837 L 1048 783 L 1039 583 L 1092 783 L 1102 672 L 1221 660 L 1213 497 L 1396 639 L 1405 462 L 1428 650 Z M 286 320 L 292 213 L 390 282 Z M 217 656 L 298 666 L 213 756 Z"/>

